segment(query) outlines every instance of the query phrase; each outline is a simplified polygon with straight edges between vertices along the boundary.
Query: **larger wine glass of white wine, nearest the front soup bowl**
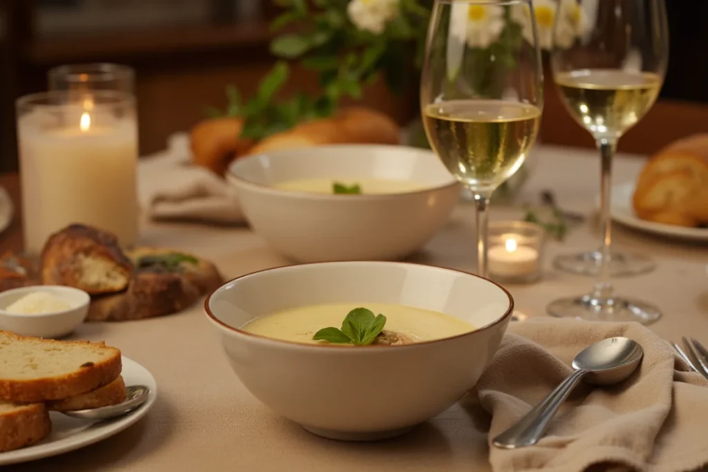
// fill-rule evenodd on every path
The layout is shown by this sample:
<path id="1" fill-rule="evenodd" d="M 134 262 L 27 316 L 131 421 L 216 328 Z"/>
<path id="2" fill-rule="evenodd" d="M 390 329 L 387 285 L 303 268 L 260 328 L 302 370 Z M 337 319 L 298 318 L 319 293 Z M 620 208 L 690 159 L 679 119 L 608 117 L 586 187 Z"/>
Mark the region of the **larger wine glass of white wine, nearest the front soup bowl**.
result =
<path id="1" fill-rule="evenodd" d="M 482 277 L 489 275 L 489 200 L 523 165 L 542 107 L 530 0 L 435 1 L 421 77 L 423 125 L 447 170 L 474 194 Z"/>

